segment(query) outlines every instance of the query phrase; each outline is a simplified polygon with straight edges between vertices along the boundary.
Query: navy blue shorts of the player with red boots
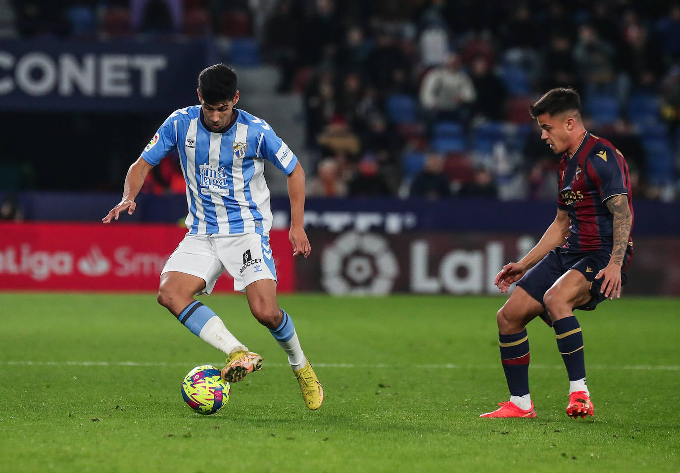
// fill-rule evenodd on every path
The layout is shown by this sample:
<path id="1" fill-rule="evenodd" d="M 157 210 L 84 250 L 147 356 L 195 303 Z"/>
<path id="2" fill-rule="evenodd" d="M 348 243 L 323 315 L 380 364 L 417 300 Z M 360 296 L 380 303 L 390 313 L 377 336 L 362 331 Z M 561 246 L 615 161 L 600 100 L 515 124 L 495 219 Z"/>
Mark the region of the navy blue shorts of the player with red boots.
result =
<path id="1" fill-rule="evenodd" d="M 555 282 L 562 277 L 569 269 L 576 269 L 590 281 L 590 295 L 592 299 L 575 309 L 594 310 L 595 307 L 607 297 L 600 292 L 602 280 L 595 279 L 600 269 L 609 264 L 610 254 L 605 250 L 600 251 L 569 251 L 566 248 L 558 247 L 545 255 L 537 265 L 526 271 L 526 274 L 517 282 L 517 286 L 526 290 L 528 295 L 536 299 L 543 305 L 541 318 L 546 324 L 552 326 L 548 317 L 543 296 Z M 625 271 L 621 271 L 621 284 L 626 284 L 628 276 Z"/>

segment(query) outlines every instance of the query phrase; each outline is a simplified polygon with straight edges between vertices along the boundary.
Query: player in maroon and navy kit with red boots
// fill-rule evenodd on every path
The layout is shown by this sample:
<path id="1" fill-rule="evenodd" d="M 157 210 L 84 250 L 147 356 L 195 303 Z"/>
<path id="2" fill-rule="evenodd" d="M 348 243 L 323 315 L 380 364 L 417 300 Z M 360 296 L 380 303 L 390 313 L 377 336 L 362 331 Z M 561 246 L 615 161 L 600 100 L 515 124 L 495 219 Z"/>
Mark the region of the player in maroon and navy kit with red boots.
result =
<path id="1" fill-rule="evenodd" d="M 624 156 L 590 134 L 581 121 L 581 99 L 553 89 L 530 107 L 541 138 L 560 156 L 558 211 L 524 258 L 496 276 L 500 292 L 517 282 L 496 316 L 500 360 L 510 400 L 480 417 L 536 417 L 529 395 L 526 324 L 541 316 L 552 326 L 569 377 L 569 417 L 593 415 L 585 384 L 583 335 L 574 309 L 593 310 L 621 296 L 632 255 L 633 209 Z"/>

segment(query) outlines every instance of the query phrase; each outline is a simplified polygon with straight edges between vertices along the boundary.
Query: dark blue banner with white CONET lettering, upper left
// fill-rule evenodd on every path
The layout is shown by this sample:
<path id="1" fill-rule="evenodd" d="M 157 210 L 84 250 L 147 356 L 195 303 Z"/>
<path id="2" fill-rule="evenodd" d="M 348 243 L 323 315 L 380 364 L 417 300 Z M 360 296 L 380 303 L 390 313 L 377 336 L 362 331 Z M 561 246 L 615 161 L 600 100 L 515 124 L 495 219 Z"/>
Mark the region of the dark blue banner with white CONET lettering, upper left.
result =
<path id="1" fill-rule="evenodd" d="M 0 111 L 172 111 L 197 102 L 206 41 L 0 41 Z"/>

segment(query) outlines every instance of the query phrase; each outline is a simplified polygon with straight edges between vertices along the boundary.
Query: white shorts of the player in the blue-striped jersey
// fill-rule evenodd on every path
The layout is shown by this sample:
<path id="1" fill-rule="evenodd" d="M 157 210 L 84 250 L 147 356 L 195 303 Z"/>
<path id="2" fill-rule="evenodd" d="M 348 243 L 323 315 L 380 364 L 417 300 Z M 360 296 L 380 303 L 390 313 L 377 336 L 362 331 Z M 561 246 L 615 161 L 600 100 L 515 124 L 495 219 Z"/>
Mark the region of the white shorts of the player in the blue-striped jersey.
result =
<path id="1" fill-rule="evenodd" d="M 160 273 L 180 271 L 203 278 L 205 289 L 200 294 L 210 294 L 224 269 L 234 278 L 234 290 L 243 291 L 261 279 L 276 280 L 269 238 L 257 233 L 187 233 Z"/>

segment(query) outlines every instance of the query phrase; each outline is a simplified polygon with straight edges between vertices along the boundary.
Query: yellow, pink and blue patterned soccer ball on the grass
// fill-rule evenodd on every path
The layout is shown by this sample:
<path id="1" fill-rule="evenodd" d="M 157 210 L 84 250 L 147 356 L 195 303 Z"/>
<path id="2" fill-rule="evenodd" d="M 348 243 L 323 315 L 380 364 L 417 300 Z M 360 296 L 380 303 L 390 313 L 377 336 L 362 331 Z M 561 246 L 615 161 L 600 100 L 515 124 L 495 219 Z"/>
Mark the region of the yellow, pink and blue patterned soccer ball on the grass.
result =
<path id="1" fill-rule="evenodd" d="M 231 386 L 222 379 L 220 370 L 204 364 L 189 371 L 182 383 L 182 397 L 192 411 L 214 414 L 226 404 Z"/>

